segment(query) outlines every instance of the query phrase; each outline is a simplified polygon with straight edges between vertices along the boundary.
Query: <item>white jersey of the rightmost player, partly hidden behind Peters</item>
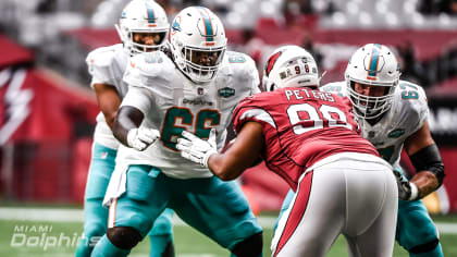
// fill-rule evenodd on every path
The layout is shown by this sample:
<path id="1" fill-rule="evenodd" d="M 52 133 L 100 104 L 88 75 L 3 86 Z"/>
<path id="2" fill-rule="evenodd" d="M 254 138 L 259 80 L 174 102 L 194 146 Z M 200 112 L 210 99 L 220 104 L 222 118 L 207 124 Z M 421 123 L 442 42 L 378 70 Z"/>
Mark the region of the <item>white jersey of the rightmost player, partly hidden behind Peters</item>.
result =
<path id="1" fill-rule="evenodd" d="M 346 82 L 322 86 L 323 91 L 347 96 Z M 381 157 L 392 166 L 398 166 L 406 138 L 422 127 L 429 115 L 427 96 L 422 87 L 399 81 L 391 109 L 374 125 L 360 121 L 361 135 L 373 144 Z"/>

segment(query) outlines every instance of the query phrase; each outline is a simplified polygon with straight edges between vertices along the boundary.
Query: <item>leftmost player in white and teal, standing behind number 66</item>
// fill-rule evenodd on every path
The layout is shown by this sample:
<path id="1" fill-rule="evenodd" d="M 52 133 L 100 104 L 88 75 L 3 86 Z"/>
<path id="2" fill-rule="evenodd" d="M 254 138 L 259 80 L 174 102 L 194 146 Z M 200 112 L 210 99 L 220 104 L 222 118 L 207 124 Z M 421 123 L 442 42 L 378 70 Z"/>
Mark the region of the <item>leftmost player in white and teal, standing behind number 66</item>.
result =
<path id="1" fill-rule="evenodd" d="M 97 117 L 92 157 L 85 192 L 84 237 L 76 256 L 90 256 L 97 241 L 107 232 L 108 208 L 102 200 L 114 170 L 120 143 L 111 127 L 127 84 L 122 81 L 131 57 L 162 48 L 166 41 L 169 22 L 163 9 L 151 0 L 133 0 L 124 8 L 116 26 L 123 44 L 102 47 L 87 57 L 91 87 L 96 91 L 101 112 Z M 173 211 L 166 209 L 149 232 L 150 256 L 174 256 L 172 241 Z"/>

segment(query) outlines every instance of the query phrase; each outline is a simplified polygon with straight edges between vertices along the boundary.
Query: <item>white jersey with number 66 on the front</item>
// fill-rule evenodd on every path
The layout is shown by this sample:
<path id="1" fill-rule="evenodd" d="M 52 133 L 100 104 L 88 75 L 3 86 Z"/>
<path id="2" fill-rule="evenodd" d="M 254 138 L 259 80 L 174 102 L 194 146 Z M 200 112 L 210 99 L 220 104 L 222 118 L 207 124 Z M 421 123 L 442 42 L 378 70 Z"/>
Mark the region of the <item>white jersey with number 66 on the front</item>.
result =
<path id="1" fill-rule="evenodd" d="M 129 85 L 122 106 L 132 106 L 145 114 L 141 126 L 161 133 L 160 140 L 144 151 L 120 147 L 118 162 L 149 164 L 176 179 L 208 178 L 212 173 L 176 150 L 176 139 L 187 130 L 208 138 L 217 128 L 218 148 L 236 105 L 259 91 L 259 75 L 254 60 L 238 52 L 226 52 L 215 78 L 207 84 L 189 81 L 163 52 L 135 56 L 124 75 Z"/>

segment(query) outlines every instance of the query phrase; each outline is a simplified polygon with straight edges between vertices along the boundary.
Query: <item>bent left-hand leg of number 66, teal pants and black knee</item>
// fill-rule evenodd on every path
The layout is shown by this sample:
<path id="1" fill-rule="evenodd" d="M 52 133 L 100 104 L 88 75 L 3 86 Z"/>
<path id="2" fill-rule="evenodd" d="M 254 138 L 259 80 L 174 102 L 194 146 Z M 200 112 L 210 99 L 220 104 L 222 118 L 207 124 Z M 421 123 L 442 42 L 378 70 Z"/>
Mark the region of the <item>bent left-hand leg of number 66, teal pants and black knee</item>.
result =
<path id="1" fill-rule="evenodd" d="M 110 206 L 107 234 L 94 248 L 94 256 L 126 256 L 149 232 L 165 209 L 166 185 L 150 166 L 131 166 L 126 192 Z"/>

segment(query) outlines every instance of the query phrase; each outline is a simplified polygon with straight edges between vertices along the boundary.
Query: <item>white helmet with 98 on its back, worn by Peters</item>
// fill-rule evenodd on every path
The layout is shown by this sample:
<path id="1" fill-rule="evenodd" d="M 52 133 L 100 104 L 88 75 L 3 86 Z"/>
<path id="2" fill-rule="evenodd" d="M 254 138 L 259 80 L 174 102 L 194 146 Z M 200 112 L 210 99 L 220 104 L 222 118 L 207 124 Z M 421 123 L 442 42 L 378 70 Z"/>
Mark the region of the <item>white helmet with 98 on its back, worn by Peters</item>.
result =
<path id="1" fill-rule="evenodd" d="M 298 46 L 283 46 L 268 58 L 263 70 L 262 89 L 282 87 L 319 87 L 319 72 L 314 58 Z"/>

